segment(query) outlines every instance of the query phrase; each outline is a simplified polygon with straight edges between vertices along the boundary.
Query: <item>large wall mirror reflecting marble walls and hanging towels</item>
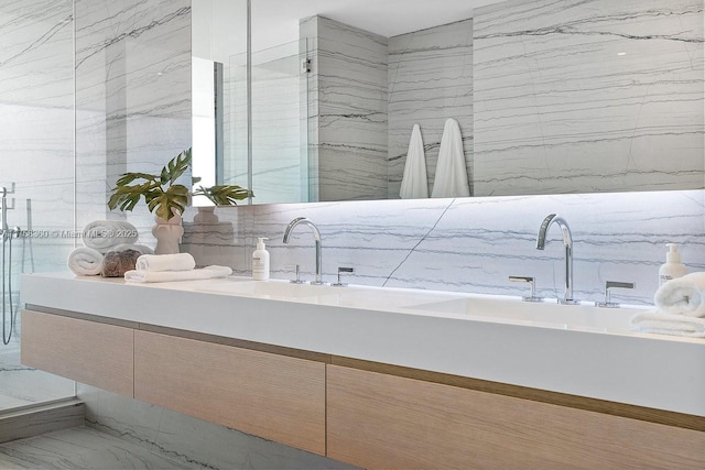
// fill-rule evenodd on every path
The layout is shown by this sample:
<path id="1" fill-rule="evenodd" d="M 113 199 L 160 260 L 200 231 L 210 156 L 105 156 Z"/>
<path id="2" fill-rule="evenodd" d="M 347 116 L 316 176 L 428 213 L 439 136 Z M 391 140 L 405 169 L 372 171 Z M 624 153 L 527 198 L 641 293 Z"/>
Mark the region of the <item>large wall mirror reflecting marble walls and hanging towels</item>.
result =
<path id="1" fill-rule="evenodd" d="M 705 186 L 702 0 L 251 0 L 249 54 L 192 7 L 194 155 L 253 204 Z"/>

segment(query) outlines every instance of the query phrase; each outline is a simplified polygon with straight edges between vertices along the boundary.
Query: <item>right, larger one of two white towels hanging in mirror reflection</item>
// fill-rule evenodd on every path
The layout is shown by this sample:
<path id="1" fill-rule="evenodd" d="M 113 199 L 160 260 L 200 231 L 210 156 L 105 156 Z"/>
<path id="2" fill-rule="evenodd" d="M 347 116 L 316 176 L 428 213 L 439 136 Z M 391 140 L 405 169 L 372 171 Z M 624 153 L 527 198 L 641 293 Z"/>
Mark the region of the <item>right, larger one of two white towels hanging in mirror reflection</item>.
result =
<path id="1" fill-rule="evenodd" d="M 433 182 L 431 197 L 464 197 L 470 195 L 467 183 L 467 166 L 463 152 L 463 134 L 460 125 L 455 119 L 445 121 L 436 177 Z"/>

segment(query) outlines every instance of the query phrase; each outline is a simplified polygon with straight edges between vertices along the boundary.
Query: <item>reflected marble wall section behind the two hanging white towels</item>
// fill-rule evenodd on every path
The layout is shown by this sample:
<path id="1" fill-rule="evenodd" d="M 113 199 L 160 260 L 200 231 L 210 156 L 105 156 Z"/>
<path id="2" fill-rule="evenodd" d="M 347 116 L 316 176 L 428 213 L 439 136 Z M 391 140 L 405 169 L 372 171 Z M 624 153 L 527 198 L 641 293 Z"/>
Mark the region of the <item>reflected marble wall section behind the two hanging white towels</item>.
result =
<path id="1" fill-rule="evenodd" d="M 421 127 L 429 194 L 447 118 L 460 124 L 473 182 L 473 20 L 389 39 L 389 194 L 399 198 L 409 139 Z M 471 183 L 470 183 L 471 186 Z"/>

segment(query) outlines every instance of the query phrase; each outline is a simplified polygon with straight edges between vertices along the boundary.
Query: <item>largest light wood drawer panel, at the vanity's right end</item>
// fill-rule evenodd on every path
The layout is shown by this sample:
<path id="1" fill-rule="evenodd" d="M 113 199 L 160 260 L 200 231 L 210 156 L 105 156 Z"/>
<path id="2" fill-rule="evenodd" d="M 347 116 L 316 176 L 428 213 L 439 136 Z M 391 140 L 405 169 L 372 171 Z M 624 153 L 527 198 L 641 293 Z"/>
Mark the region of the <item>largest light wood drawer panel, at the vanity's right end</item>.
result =
<path id="1" fill-rule="evenodd" d="M 327 406 L 328 457 L 365 468 L 705 468 L 705 433 L 336 365 Z"/>

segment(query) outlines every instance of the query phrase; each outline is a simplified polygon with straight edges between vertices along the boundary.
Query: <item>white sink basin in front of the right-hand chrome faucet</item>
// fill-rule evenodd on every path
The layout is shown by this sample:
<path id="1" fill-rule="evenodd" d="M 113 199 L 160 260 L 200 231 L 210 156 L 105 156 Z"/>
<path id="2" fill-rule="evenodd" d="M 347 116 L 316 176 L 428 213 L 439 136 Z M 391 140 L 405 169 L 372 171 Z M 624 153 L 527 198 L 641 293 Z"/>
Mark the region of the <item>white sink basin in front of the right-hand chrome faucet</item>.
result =
<path id="1" fill-rule="evenodd" d="M 481 296 L 420 304 L 410 308 L 491 321 L 597 331 L 629 330 L 629 319 L 639 311 L 639 307 L 598 308 L 588 304 L 560 305 L 551 302 L 522 302 L 518 297 L 505 299 Z"/>

